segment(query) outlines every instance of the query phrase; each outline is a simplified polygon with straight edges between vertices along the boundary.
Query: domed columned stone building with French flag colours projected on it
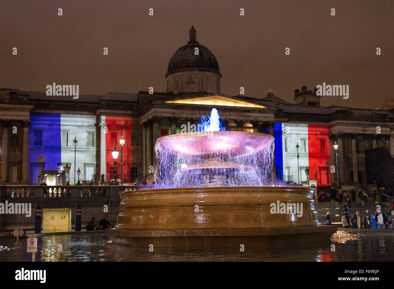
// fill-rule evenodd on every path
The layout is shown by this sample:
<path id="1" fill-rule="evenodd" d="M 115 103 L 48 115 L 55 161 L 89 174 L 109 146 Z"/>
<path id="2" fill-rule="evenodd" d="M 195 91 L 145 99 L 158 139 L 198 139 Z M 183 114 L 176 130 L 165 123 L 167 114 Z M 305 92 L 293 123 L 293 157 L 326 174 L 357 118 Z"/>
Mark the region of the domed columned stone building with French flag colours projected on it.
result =
<path id="1" fill-rule="evenodd" d="M 182 125 L 197 124 L 213 107 L 229 130 L 272 135 L 277 178 L 288 182 L 316 180 L 325 188 L 336 184 L 338 177 L 342 187 L 359 189 L 368 185 L 367 150 L 383 147 L 394 156 L 392 109 L 322 107 L 316 90 L 305 86 L 295 90 L 292 103 L 271 89 L 264 97 L 221 94 L 219 64 L 197 42 L 193 27 L 187 44 L 171 57 L 165 79 L 166 92 L 108 92 L 78 99 L 1 88 L 0 183 L 37 184 L 39 170 L 59 166 L 68 168 L 70 184 L 76 182 L 78 169 L 83 180 L 111 180 L 111 152 L 115 147 L 121 151 L 121 138 L 124 182 L 152 180 L 156 139 L 180 133 Z M 41 156 L 45 161 L 38 160 Z M 121 154 L 118 179 L 120 158 Z"/>

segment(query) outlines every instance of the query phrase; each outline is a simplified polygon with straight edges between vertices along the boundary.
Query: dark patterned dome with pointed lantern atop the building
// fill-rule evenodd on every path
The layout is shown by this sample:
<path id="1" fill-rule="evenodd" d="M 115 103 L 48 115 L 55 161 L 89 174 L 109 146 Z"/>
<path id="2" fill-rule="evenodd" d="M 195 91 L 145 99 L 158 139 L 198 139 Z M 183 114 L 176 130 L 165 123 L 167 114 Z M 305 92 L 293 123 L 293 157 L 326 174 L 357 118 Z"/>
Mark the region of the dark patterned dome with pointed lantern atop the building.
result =
<path id="1" fill-rule="evenodd" d="M 221 77 L 215 55 L 208 48 L 198 43 L 196 29 L 193 26 L 190 28 L 189 36 L 188 44 L 179 48 L 171 57 L 165 77 L 185 71 L 213 72 Z M 195 48 L 198 48 L 198 55 L 195 55 Z"/>

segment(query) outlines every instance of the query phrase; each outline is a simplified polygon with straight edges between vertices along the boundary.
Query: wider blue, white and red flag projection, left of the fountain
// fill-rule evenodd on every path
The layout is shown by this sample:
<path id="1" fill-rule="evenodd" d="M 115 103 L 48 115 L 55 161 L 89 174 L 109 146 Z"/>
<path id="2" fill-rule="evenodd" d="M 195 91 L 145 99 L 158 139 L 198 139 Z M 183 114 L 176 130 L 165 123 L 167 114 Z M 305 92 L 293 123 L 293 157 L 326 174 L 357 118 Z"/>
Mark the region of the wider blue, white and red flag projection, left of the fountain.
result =
<path id="1" fill-rule="evenodd" d="M 115 145 L 121 152 L 119 140 L 122 136 L 126 140 L 123 145 L 123 178 L 129 180 L 132 170 L 132 118 L 118 116 L 99 118 L 100 125 L 96 125 L 95 115 L 30 113 L 29 183 L 39 183 L 40 169 L 59 170 L 59 168 L 66 168 L 69 171 L 67 180 L 70 184 L 78 180 L 78 169 L 80 179 L 90 182 L 97 173 L 96 166 L 100 166 L 101 172 L 105 172 L 104 180 L 110 180 L 115 171 L 111 152 Z M 77 145 L 74 145 L 75 139 L 78 141 Z M 117 160 L 119 179 L 120 168 L 121 154 L 119 153 Z"/>

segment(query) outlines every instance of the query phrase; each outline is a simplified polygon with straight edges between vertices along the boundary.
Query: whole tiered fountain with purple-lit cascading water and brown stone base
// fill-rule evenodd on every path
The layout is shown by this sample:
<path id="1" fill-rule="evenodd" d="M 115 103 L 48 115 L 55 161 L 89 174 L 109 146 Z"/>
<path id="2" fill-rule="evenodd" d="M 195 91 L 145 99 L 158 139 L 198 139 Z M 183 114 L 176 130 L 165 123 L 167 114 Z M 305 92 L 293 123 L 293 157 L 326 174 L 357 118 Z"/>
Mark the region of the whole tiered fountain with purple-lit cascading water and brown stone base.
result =
<path id="1" fill-rule="evenodd" d="M 329 240 L 313 189 L 276 180 L 274 138 L 224 131 L 212 109 L 193 131 L 156 140 L 155 189 L 123 191 L 114 243 L 267 245 Z M 281 210 L 279 209 L 281 208 Z"/>

